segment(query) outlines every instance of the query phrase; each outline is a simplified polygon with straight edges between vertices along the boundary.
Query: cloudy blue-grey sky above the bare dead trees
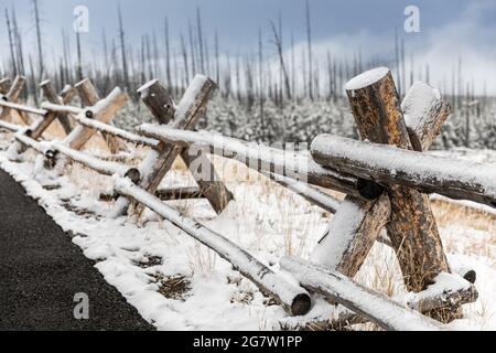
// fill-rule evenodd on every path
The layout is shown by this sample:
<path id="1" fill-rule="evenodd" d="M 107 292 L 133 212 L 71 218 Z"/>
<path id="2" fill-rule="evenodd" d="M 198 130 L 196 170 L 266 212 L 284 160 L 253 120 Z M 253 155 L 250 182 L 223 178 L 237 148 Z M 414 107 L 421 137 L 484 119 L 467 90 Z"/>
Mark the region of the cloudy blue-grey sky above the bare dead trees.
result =
<path id="1" fill-rule="evenodd" d="M 83 35 L 86 47 L 97 53 L 101 47 L 101 29 L 109 36 L 117 35 L 117 4 L 120 3 L 126 28 L 126 40 L 138 44 L 141 35 L 153 29 L 161 34 L 163 19 L 170 21 L 171 35 L 187 31 L 188 21 L 195 21 L 198 7 L 203 26 L 209 41 L 218 32 L 223 50 L 248 52 L 257 45 L 258 29 L 268 41 L 269 20 L 282 15 L 285 43 L 291 31 L 296 45 L 304 41 L 305 18 L 303 0 L 39 0 L 44 45 L 50 57 L 61 46 L 61 29 L 72 32 L 73 9 L 86 6 L 89 10 L 89 33 Z M 35 43 L 32 0 L 0 0 L 0 9 L 14 7 L 24 45 Z M 414 4 L 420 10 L 420 33 L 406 33 L 403 10 Z M 310 0 L 315 51 L 331 50 L 335 55 L 362 51 L 370 55 L 391 55 L 395 30 L 405 38 L 407 55 L 414 61 L 428 61 L 433 79 L 450 79 L 459 57 L 464 64 L 464 76 L 479 83 L 486 81 L 496 93 L 496 1 L 463 0 Z M 6 21 L 0 33 L 7 34 Z M 74 40 L 74 38 L 73 38 Z M 7 35 L 0 35 L 2 54 L 8 55 Z M 4 58 L 1 58 L 4 61 Z M 420 64 L 419 64 L 420 65 Z M 448 77 L 448 78 L 446 78 Z"/>

